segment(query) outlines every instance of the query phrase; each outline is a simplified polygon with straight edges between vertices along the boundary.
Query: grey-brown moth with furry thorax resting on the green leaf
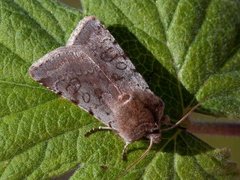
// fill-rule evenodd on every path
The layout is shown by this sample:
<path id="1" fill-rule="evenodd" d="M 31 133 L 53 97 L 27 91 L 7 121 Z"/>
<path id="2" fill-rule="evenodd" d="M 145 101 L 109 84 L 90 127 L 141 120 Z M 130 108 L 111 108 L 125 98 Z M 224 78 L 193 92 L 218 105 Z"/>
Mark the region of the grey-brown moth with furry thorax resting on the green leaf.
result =
<path id="1" fill-rule="evenodd" d="M 134 141 L 148 138 L 148 150 L 160 142 L 161 125 L 168 120 L 164 102 L 94 16 L 81 20 L 66 46 L 40 58 L 29 73 L 105 124 L 87 135 L 96 130 L 115 131 L 125 142 L 123 157 Z"/>

